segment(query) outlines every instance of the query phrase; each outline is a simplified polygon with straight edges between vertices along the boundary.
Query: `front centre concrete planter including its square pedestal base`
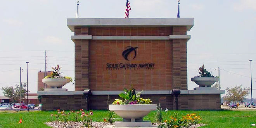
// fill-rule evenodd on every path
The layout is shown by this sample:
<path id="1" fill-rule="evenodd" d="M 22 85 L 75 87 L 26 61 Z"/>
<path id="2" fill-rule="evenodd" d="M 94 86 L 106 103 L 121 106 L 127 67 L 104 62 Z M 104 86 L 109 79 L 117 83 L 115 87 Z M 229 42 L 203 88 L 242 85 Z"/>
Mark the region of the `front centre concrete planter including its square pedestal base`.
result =
<path id="1" fill-rule="evenodd" d="M 109 111 L 123 118 L 123 121 L 115 121 L 115 127 L 152 127 L 150 121 L 143 121 L 142 118 L 154 110 L 156 104 L 109 105 Z"/>

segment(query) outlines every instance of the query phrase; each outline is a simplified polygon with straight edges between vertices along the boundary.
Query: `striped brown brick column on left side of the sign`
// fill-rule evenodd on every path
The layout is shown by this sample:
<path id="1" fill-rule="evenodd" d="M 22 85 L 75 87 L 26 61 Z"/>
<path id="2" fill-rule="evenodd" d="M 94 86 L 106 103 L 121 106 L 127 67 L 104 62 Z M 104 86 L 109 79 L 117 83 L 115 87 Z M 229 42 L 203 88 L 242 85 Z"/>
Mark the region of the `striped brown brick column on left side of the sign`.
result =
<path id="1" fill-rule="evenodd" d="M 88 28 L 75 28 L 75 35 L 88 35 Z M 75 90 L 89 88 L 89 41 L 75 40 Z"/>

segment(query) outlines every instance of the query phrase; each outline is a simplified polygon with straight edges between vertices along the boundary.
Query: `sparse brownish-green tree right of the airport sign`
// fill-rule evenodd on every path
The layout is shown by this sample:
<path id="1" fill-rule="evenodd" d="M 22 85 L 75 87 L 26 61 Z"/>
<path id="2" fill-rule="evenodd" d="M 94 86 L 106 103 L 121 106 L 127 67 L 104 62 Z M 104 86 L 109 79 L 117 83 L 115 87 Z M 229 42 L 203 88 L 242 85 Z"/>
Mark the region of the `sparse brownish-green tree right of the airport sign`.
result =
<path id="1" fill-rule="evenodd" d="M 241 101 L 242 103 L 245 97 L 248 96 L 250 93 L 250 88 L 242 88 L 242 85 L 227 88 L 226 90 L 228 91 L 228 93 L 224 96 L 224 100 L 229 102 L 233 101 L 233 103 L 235 101 Z"/>

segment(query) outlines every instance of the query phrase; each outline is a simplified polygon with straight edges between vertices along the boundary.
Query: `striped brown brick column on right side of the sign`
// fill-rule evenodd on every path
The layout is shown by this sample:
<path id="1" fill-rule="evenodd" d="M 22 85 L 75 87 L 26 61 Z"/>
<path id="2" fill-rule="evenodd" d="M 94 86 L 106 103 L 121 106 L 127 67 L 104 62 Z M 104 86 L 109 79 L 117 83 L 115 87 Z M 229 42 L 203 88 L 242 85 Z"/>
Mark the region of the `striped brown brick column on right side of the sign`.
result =
<path id="1" fill-rule="evenodd" d="M 173 27 L 173 35 L 187 35 L 187 28 Z M 187 40 L 173 40 L 173 88 L 187 90 Z"/>

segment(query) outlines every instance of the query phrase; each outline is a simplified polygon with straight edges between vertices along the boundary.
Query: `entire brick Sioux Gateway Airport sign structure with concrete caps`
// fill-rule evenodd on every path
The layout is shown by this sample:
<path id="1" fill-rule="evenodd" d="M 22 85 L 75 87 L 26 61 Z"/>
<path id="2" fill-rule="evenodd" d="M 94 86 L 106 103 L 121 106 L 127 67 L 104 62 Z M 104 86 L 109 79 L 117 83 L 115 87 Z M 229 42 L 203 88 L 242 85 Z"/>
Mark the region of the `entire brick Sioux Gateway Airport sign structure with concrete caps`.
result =
<path id="1" fill-rule="evenodd" d="M 67 19 L 74 32 L 75 91 L 38 92 L 42 110 L 107 109 L 123 88 L 162 108 L 220 109 L 223 90 L 187 90 L 187 31 L 194 18 Z"/>

